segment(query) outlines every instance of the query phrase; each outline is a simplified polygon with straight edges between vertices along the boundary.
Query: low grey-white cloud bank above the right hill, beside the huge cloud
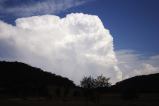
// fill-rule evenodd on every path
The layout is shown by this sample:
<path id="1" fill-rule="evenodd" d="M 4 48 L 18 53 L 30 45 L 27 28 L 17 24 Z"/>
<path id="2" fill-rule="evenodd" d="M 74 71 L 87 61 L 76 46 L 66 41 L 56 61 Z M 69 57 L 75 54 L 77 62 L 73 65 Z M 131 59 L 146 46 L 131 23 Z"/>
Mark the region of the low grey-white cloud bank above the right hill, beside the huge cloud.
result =
<path id="1" fill-rule="evenodd" d="M 123 78 L 159 72 L 159 55 L 145 57 L 132 50 L 116 51 Z"/>

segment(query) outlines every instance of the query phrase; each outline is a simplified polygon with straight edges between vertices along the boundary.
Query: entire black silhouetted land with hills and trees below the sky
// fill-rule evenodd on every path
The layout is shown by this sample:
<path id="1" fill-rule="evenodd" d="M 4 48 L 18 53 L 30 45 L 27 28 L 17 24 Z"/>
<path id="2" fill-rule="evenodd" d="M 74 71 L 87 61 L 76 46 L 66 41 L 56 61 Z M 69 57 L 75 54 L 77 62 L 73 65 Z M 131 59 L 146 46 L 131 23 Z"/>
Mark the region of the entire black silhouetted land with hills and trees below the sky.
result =
<path id="1" fill-rule="evenodd" d="M 159 74 L 136 76 L 116 85 L 109 80 L 103 75 L 88 76 L 78 87 L 67 78 L 24 63 L 0 62 L 0 105 L 159 105 Z"/>

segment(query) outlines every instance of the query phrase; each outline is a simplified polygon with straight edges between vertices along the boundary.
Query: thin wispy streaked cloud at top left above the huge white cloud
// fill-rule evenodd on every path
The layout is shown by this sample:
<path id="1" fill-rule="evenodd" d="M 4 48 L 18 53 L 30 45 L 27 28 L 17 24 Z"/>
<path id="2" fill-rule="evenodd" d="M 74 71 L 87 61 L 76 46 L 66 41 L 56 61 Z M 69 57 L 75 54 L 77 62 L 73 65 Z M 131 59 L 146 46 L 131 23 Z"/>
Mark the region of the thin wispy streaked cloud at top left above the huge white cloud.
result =
<path id="1" fill-rule="evenodd" d="M 89 0 L 87 0 L 89 1 Z M 82 5 L 86 0 L 1 0 L 0 13 L 16 17 L 59 13 Z"/>

